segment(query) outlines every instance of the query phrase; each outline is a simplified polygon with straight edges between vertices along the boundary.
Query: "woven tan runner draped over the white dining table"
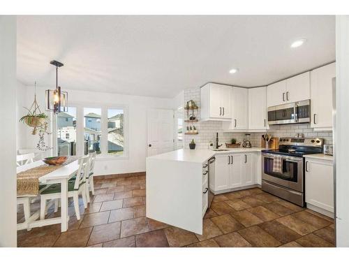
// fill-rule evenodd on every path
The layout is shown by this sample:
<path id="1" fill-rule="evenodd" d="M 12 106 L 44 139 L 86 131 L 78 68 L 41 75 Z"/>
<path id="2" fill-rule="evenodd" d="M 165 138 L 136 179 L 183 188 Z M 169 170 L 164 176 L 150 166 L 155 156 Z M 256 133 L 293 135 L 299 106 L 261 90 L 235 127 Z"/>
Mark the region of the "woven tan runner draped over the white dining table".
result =
<path id="1" fill-rule="evenodd" d="M 66 166 L 69 163 L 77 160 L 77 157 L 69 157 L 66 162 L 59 166 L 50 166 L 43 164 L 42 166 L 36 166 L 25 170 L 17 174 L 17 196 L 24 195 L 38 195 L 39 192 L 39 177 L 51 173 L 62 166 Z"/>

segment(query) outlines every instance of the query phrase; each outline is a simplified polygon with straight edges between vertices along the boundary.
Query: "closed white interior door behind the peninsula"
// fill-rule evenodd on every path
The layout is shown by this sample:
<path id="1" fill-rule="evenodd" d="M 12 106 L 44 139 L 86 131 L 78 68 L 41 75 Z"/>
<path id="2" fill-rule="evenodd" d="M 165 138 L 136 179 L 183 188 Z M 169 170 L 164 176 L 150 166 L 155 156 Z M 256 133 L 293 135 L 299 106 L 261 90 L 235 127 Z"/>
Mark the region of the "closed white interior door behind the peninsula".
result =
<path id="1" fill-rule="evenodd" d="M 173 150 L 174 112 L 168 109 L 149 109 L 148 120 L 148 157 Z"/>

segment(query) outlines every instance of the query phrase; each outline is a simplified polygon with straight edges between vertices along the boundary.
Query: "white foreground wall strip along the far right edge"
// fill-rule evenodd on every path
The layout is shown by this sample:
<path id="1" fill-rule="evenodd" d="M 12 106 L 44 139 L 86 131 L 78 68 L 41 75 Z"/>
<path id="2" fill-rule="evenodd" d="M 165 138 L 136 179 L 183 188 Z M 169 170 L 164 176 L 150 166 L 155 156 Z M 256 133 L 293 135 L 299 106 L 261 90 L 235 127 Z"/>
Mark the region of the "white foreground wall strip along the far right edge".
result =
<path id="1" fill-rule="evenodd" d="M 336 245 L 349 247 L 349 16 L 336 17 Z"/>

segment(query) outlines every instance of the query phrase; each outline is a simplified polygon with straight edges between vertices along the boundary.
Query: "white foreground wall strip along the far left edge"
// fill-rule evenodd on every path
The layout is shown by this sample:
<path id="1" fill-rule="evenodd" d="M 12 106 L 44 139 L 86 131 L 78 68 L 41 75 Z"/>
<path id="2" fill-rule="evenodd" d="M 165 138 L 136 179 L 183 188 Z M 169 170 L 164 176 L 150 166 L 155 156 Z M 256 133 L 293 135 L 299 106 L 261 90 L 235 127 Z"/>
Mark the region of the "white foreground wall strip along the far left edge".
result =
<path id="1" fill-rule="evenodd" d="M 0 247 L 17 246 L 15 16 L 0 16 Z"/>

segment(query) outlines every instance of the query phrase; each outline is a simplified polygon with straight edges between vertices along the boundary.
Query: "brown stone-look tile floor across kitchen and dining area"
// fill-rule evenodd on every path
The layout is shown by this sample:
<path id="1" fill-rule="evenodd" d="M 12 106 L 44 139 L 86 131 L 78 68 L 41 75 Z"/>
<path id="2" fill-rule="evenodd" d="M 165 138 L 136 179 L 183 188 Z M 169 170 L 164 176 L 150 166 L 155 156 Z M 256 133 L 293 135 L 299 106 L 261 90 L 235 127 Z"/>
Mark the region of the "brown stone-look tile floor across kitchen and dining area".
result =
<path id="1" fill-rule="evenodd" d="M 333 219 L 258 188 L 215 196 L 202 235 L 145 217 L 144 175 L 95 180 L 95 188 L 86 210 L 80 202 L 80 220 L 70 203 L 67 232 L 18 231 L 18 247 L 334 247 Z M 50 209 L 47 217 L 59 215 Z"/>

